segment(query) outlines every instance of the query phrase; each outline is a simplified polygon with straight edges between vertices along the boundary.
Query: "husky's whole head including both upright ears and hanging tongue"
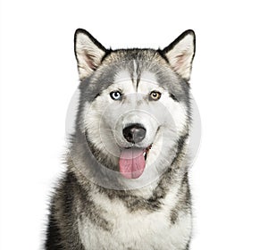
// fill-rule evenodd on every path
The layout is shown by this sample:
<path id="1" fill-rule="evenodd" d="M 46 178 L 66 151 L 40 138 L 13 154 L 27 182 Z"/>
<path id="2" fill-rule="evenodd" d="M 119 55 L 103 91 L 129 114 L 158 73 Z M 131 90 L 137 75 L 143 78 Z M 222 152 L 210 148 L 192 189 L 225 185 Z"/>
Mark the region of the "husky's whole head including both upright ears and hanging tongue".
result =
<path id="1" fill-rule="evenodd" d="M 112 51 L 78 29 L 75 51 L 78 121 L 97 160 L 126 179 L 163 171 L 188 133 L 193 31 L 163 50 Z"/>

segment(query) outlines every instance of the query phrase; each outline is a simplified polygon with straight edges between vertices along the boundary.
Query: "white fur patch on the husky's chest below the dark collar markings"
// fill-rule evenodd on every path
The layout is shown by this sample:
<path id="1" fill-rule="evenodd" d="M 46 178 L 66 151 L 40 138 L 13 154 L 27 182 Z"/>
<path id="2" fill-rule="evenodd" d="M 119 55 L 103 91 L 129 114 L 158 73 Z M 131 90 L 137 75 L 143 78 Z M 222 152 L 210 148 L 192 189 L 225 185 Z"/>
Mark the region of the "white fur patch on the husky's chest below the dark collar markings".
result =
<path id="1" fill-rule="evenodd" d="M 190 214 L 181 213 L 180 223 L 172 225 L 170 212 L 174 200 L 171 198 L 174 197 L 167 196 L 163 207 L 155 212 L 144 209 L 130 212 L 123 202 L 99 196 L 96 204 L 105 211 L 99 216 L 107 221 L 107 227 L 83 217 L 79 221 L 82 244 L 87 250 L 184 249 L 191 231 Z"/>

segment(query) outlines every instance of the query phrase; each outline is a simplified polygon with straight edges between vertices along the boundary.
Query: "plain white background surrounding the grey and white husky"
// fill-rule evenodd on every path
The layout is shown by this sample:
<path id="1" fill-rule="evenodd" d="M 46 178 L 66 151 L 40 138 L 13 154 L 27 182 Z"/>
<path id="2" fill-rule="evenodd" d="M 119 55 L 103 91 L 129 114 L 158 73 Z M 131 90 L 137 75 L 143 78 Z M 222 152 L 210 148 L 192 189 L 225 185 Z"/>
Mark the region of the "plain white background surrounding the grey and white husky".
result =
<path id="1" fill-rule="evenodd" d="M 197 34 L 191 79 L 202 144 L 191 170 L 192 249 L 268 249 L 268 18 L 265 1 L 1 2 L 1 249 L 39 249 L 63 171 L 78 86 L 73 33 L 112 48 Z"/>

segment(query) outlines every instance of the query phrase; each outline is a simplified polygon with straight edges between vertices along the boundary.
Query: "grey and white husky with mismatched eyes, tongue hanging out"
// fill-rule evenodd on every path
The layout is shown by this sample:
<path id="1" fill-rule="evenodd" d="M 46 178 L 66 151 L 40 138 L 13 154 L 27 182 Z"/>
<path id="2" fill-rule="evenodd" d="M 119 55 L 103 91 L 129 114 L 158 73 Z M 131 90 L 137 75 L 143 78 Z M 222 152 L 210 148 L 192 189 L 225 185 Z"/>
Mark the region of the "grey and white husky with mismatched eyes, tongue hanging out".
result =
<path id="1" fill-rule="evenodd" d="M 193 30 L 163 49 L 106 49 L 77 29 L 80 98 L 46 249 L 187 250 Z"/>

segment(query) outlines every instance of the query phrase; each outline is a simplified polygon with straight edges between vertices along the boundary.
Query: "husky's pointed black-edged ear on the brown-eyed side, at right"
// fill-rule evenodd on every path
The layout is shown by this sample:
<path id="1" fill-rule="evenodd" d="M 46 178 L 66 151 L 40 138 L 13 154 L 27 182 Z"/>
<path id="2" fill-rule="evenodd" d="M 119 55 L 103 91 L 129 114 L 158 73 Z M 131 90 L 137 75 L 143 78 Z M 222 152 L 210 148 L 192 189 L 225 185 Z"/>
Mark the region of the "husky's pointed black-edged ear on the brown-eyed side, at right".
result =
<path id="1" fill-rule="evenodd" d="M 196 51 L 196 35 L 191 29 L 183 32 L 170 46 L 163 49 L 163 55 L 168 59 L 174 71 L 183 79 L 189 80 L 192 62 Z"/>

